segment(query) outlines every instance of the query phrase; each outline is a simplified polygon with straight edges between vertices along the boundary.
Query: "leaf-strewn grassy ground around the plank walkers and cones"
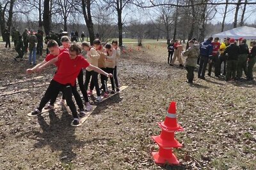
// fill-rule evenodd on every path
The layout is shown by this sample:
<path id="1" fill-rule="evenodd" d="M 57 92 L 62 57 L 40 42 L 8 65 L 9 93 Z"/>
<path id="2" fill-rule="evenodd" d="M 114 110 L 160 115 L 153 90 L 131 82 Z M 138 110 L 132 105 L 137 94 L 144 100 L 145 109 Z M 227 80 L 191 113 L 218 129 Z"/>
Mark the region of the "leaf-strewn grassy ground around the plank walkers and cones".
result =
<path id="1" fill-rule="evenodd" d="M 3 45 L 0 53 L 0 94 L 29 88 L 0 96 L 1 169 L 256 167 L 255 81 L 206 76 L 188 85 L 186 70 L 178 63 L 167 64 L 164 43 L 128 45 L 118 66 L 120 83 L 128 88 L 102 103 L 91 101 L 97 109 L 75 128 L 67 106 L 35 118 L 26 116 L 38 106 L 55 67 L 28 75 L 28 60 L 13 61 L 15 51 Z M 44 78 L 4 86 L 36 76 Z M 173 150 L 180 165 L 159 166 L 150 155 L 158 149 L 151 136 L 160 134 L 157 122 L 164 120 L 170 101 L 177 103 L 177 122 L 184 128 L 175 132 L 183 146 Z"/>

